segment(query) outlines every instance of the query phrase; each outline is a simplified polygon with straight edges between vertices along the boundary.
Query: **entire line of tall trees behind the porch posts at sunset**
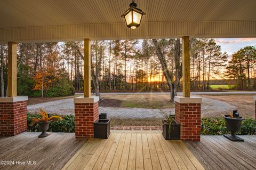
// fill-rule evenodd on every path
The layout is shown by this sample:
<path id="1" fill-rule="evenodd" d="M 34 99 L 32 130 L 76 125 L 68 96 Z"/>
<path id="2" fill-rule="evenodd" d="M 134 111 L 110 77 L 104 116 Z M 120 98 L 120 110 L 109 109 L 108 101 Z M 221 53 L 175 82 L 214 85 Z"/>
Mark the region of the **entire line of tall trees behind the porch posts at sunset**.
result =
<path id="1" fill-rule="evenodd" d="M 4 96 L 6 44 L 0 45 L 0 55 Z M 238 89 L 255 88 L 255 59 L 251 55 L 254 53 L 242 62 L 242 52 L 233 54 L 228 62 L 228 55 L 214 39 L 190 39 L 191 89 L 207 90 L 213 79 L 225 78 L 234 79 Z M 169 90 L 173 99 L 182 88 L 181 39 L 92 41 L 91 63 L 92 91 L 97 95 L 100 91 Z M 237 70 L 239 63 L 243 67 Z M 52 97 L 82 91 L 83 42 L 18 44 L 17 67 L 20 95 Z"/>

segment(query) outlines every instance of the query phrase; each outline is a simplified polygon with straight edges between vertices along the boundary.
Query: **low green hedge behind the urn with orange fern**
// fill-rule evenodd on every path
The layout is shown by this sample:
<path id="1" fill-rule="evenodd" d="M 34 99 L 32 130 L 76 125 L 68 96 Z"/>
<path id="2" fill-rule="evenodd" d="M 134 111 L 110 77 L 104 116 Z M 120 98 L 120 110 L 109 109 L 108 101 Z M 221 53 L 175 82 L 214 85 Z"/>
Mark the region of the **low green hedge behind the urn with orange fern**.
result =
<path id="1" fill-rule="evenodd" d="M 53 115 L 49 115 L 53 116 Z M 31 123 L 31 119 L 33 118 L 39 118 L 40 116 L 38 114 L 30 114 L 27 113 L 27 122 L 28 122 L 28 132 L 39 132 L 39 126 L 38 124 L 35 126 L 29 126 Z M 49 132 L 68 132 L 68 133 L 74 133 L 75 132 L 75 117 L 73 115 L 66 115 L 61 116 L 62 120 L 57 120 L 55 122 L 51 122 L 49 126 Z"/>

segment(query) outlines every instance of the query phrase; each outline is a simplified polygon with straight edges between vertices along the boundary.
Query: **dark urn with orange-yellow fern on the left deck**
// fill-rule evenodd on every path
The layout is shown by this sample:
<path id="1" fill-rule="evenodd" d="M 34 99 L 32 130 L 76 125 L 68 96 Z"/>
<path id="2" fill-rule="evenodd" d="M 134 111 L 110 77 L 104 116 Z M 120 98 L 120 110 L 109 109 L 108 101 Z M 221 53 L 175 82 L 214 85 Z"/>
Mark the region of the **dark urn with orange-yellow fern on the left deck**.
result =
<path id="1" fill-rule="evenodd" d="M 41 116 L 41 118 L 33 118 L 30 123 L 29 126 L 34 126 L 35 124 L 39 125 L 39 129 L 42 132 L 41 135 L 39 135 L 38 137 L 46 137 L 49 134 L 46 133 L 46 131 L 49 129 L 49 124 L 52 121 L 58 120 L 58 119 L 62 119 L 60 116 L 49 116 L 47 114 L 47 112 L 45 112 L 42 108 L 40 108 L 40 111 L 38 112 L 38 114 Z"/>

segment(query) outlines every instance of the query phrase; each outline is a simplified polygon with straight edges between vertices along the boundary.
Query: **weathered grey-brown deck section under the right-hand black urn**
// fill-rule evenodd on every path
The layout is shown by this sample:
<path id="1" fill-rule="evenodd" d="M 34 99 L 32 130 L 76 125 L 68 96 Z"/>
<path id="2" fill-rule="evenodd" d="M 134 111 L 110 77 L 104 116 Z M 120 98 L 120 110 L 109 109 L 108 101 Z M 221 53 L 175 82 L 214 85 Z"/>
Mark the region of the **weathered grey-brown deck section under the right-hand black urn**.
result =
<path id="1" fill-rule="evenodd" d="M 256 169 L 256 136 L 241 136 L 232 142 L 223 136 L 201 136 L 200 142 L 185 142 L 205 169 Z"/>

